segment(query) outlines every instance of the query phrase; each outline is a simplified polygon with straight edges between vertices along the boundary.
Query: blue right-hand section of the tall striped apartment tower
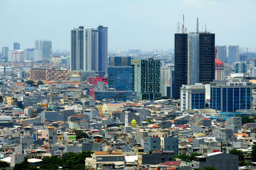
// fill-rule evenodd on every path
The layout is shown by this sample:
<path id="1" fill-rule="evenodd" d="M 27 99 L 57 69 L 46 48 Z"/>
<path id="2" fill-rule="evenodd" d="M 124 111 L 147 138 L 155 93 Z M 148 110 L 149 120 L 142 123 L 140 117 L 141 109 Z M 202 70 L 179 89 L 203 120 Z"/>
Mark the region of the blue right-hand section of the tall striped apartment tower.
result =
<path id="1" fill-rule="evenodd" d="M 99 59 L 98 71 L 106 73 L 108 68 L 108 27 L 99 25 Z"/>

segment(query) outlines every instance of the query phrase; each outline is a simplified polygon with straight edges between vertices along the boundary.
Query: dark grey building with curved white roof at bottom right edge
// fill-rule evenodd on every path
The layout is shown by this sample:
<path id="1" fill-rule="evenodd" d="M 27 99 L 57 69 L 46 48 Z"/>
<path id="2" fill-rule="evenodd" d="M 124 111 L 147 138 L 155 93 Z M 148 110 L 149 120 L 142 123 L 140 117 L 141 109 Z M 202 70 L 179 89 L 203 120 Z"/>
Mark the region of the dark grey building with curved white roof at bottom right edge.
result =
<path id="1" fill-rule="evenodd" d="M 207 156 L 196 156 L 193 160 L 193 169 L 215 167 L 216 169 L 238 170 L 238 156 L 228 153 L 209 153 Z"/>

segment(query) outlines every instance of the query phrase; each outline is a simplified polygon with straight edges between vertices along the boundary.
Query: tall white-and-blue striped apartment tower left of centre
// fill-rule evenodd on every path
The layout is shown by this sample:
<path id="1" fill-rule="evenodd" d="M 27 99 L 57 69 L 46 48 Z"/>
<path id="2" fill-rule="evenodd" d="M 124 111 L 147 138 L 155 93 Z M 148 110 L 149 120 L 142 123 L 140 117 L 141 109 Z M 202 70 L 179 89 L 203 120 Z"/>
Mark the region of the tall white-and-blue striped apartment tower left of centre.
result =
<path id="1" fill-rule="evenodd" d="M 108 27 L 71 30 L 70 69 L 106 71 L 108 59 Z M 103 75 L 104 76 L 104 75 Z"/>

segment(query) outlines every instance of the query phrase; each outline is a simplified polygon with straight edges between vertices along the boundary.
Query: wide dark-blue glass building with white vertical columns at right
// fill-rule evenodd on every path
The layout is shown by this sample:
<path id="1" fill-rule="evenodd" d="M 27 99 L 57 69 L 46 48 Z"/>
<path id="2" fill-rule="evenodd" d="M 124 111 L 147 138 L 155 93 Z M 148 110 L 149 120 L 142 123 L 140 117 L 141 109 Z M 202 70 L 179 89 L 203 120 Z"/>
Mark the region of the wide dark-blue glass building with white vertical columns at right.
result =
<path id="1" fill-rule="evenodd" d="M 248 80 L 214 80 L 210 87 L 212 109 L 222 112 L 251 109 L 252 83 Z"/>

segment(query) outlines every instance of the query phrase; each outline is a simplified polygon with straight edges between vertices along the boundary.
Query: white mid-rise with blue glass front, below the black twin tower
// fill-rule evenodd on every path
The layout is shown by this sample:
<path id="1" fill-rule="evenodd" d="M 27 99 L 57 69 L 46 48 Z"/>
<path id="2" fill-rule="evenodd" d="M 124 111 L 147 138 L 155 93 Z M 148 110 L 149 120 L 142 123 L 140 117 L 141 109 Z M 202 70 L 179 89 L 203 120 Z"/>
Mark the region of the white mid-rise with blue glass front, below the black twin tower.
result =
<path id="1" fill-rule="evenodd" d="M 205 108 L 205 85 L 182 85 L 180 88 L 180 111 Z"/>

